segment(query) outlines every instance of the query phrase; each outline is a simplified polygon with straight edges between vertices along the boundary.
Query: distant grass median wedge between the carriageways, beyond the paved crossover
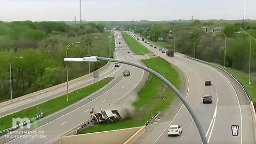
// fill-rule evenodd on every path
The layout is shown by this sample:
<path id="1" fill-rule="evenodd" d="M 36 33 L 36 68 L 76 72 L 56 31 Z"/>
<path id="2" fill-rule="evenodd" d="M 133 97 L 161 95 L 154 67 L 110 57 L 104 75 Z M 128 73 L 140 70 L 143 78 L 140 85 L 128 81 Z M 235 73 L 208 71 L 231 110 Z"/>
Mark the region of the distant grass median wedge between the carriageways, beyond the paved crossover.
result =
<path id="1" fill-rule="evenodd" d="M 129 34 L 122 32 L 122 36 L 124 37 L 126 43 L 131 47 L 132 51 L 135 54 L 141 55 L 143 53 L 151 53 L 145 46 L 138 43 L 137 39 L 133 38 Z"/>

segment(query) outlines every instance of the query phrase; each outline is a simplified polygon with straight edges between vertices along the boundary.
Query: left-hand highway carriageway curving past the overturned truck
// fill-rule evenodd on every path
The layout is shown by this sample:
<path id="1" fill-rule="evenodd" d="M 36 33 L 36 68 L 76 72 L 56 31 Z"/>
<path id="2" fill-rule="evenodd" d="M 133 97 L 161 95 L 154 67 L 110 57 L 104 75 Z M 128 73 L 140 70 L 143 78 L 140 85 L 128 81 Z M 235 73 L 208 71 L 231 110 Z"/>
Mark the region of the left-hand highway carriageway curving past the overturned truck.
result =
<path id="1" fill-rule="evenodd" d="M 122 41 L 121 44 L 125 45 L 125 42 Z M 118 55 L 118 59 L 138 62 L 134 59 L 133 54 L 127 53 L 127 51 L 115 51 L 115 55 Z M 110 66 L 114 67 L 114 63 L 111 63 Z M 130 70 L 131 75 L 123 77 L 124 70 Z M 134 94 L 137 93 L 139 87 L 146 81 L 148 74 L 142 69 L 127 65 L 120 65 L 119 67 L 113 68 L 113 71 L 116 72 L 105 76 L 120 78 L 118 83 L 113 87 L 110 87 L 110 89 L 97 97 L 93 97 L 93 95 L 91 95 L 85 98 L 86 102 L 84 102 L 82 106 L 79 106 L 58 118 L 53 119 L 52 121 L 37 127 L 37 129 L 34 129 L 32 132 L 37 132 L 34 134 L 34 136 L 37 135 L 37 138 L 27 136 L 31 134 L 24 134 L 21 138 L 13 139 L 7 143 L 45 143 L 54 141 L 54 139 L 60 137 L 63 133 L 74 129 L 77 125 L 85 121 L 90 121 L 90 110 L 92 108 L 99 111 L 102 108 L 123 109 L 123 103 L 126 103 L 127 106 L 127 103 L 130 102 L 131 105 L 131 99 L 134 97 Z M 40 134 L 38 132 L 42 131 L 44 138 L 39 138 Z"/>

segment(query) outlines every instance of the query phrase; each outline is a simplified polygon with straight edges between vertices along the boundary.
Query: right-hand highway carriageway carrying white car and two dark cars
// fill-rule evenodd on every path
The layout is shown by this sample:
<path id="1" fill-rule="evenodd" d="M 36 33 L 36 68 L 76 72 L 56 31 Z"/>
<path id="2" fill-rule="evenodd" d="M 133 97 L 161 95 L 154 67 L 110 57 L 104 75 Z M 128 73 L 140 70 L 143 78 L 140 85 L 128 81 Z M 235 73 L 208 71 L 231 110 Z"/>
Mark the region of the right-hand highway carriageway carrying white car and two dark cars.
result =
<path id="1" fill-rule="evenodd" d="M 249 100 L 234 79 L 218 68 L 186 58 L 179 53 L 175 53 L 174 58 L 167 57 L 158 49 L 139 42 L 159 57 L 181 68 L 188 76 L 189 87 L 185 96 L 201 120 L 209 143 L 255 143 Z M 212 86 L 204 85 L 208 79 L 212 81 Z M 203 104 L 203 95 L 212 95 L 213 102 Z M 168 137 L 167 129 L 174 124 L 181 125 L 183 132 L 179 137 Z M 237 137 L 231 134 L 231 125 L 239 125 Z M 201 142 L 194 120 L 182 105 L 174 117 L 164 115 L 135 143 Z"/>

